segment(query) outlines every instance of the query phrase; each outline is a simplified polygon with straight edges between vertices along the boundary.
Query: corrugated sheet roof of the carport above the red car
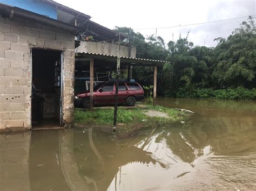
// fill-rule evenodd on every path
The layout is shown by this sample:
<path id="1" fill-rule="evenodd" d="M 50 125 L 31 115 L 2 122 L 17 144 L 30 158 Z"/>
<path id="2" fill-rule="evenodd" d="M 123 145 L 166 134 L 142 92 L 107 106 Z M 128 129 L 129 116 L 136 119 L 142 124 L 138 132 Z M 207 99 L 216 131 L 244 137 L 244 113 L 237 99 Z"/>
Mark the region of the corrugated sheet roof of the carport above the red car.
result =
<path id="1" fill-rule="evenodd" d="M 84 60 L 88 60 L 88 58 L 116 62 L 118 56 L 107 55 L 107 54 L 96 54 L 96 53 L 76 53 L 76 61 L 84 61 Z M 125 56 L 120 56 L 120 59 L 121 59 L 120 60 L 121 63 L 122 62 L 129 63 L 129 65 L 155 66 L 155 65 L 158 65 L 159 63 L 170 63 L 168 61 L 163 61 L 163 60 L 130 58 Z"/>

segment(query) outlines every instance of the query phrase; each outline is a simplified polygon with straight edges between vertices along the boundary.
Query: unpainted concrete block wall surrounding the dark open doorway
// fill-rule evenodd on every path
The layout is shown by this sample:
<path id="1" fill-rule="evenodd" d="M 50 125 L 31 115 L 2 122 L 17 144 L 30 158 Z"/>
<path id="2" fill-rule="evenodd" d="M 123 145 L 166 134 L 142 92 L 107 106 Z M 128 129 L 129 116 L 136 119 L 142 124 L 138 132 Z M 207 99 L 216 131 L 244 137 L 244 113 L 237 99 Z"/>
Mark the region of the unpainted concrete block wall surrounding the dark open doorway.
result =
<path id="1" fill-rule="evenodd" d="M 31 48 L 64 52 L 64 123 L 73 122 L 75 36 L 0 13 L 0 130 L 31 128 Z"/>

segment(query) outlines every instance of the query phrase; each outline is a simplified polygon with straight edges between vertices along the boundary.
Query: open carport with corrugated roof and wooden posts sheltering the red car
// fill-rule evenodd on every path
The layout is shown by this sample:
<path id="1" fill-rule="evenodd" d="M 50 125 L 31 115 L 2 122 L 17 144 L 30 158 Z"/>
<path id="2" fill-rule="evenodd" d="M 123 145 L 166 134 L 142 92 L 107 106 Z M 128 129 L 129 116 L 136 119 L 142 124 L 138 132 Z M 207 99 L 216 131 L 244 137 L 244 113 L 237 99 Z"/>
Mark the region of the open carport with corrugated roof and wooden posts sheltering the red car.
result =
<path id="1" fill-rule="evenodd" d="M 90 109 L 93 108 L 93 82 L 95 67 L 110 68 L 115 71 L 119 68 L 129 68 L 127 80 L 131 79 L 131 68 L 134 66 L 154 67 L 154 83 L 153 83 L 153 105 L 156 106 L 157 97 L 157 66 L 167 61 L 150 60 L 141 58 L 130 58 L 124 56 L 114 56 L 96 53 L 76 53 L 76 69 L 90 69 Z"/>

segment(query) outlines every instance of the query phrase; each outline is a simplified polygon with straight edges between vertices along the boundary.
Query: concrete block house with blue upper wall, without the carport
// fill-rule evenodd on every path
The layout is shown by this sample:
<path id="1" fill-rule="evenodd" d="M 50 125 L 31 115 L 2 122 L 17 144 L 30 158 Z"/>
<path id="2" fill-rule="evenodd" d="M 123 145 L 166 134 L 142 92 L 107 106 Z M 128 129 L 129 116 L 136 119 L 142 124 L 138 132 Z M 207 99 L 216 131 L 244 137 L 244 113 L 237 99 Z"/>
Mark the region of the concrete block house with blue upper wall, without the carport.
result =
<path id="1" fill-rule="evenodd" d="M 76 36 L 97 27 L 118 38 L 90 18 L 50 0 L 0 0 L 0 130 L 32 128 L 33 87 L 44 119 L 73 123 Z"/>

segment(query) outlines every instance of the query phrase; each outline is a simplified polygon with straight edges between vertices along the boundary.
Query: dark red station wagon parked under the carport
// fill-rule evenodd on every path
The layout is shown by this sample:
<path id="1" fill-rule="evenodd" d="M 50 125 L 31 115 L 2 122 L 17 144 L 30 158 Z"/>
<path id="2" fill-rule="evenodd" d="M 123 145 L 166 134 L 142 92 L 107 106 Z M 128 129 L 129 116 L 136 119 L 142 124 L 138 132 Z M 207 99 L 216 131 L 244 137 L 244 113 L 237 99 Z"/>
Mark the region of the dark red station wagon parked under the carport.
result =
<path id="1" fill-rule="evenodd" d="M 118 82 L 118 103 L 135 105 L 144 99 L 143 88 L 136 82 Z M 115 82 L 99 83 L 93 88 L 93 104 L 113 104 L 116 102 Z M 90 91 L 75 95 L 75 105 L 87 108 L 90 105 Z"/>

